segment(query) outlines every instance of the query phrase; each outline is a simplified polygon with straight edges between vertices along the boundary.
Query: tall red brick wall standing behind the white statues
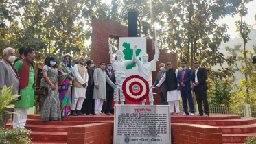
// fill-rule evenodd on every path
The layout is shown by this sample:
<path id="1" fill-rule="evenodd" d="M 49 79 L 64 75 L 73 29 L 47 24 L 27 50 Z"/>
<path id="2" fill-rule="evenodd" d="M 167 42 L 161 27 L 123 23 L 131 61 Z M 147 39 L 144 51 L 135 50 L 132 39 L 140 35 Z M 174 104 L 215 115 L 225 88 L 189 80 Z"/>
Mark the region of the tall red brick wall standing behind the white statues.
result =
<path id="1" fill-rule="evenodd" d="M 100 19 L 93 20 L 93 32 L 91 43 L 91 59 L 99 67 L 100 62 L 110 62 L 110 56 L 108 55 L 108 39 L 109 37 L 119 38 L 128 36 L 128 27 L 104 21 Z M 154 58 L 154 40 L 147 39 L 147 53 L 149 61 Z M 159 70 L 159 64 L 166 62 L 172 62 L 175 69 L 178 68 L 178 57 L 176 53 L 167 53 L 164 50 L 160 50 L 159 62 L 156 63 L 156 71 L 152 72 L 152 82 L 154 84 L 156 80 L 156 73 Z M 165 66 L 166 69 L 166 66 Z M 154 104 L 161 104 L 158 90 L 154 90 Z M 128 102 L 129 103 L 129 102 Z M 140 103 L 138 103 L 140 104 Z M 149 104 L 148 98 L 146 104 Z"/>

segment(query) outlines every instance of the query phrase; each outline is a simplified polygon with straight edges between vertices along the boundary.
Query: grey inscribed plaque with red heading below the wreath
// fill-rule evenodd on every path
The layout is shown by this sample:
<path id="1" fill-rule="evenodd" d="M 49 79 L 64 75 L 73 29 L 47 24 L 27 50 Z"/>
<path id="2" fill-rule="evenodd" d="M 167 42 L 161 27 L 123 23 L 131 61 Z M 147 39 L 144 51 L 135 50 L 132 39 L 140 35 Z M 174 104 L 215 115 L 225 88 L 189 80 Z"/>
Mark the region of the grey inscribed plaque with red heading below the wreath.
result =
<path id="1" fill-rule="evenodd" d="M 168 105 L 115 105 L 114 144 L 170 144 Z"/>

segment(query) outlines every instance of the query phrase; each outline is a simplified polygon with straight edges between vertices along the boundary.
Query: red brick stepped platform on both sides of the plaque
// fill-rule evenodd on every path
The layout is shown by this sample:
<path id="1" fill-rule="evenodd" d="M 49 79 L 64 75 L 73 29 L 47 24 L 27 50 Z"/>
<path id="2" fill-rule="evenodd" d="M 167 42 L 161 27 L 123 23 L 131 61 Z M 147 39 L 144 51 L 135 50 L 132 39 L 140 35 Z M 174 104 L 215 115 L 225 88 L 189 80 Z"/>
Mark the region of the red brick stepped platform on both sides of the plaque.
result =
<path id="1" fill-rule="evenodd" d="M 33 143 L 108 144 L 113 143 L 113 121 L 113 115 L 69 116 L 62 121 L 40 121 L 40 115 L 28 115 L 25 128 L 32 130 Z M 7 126 L 12 126 L 11 120 Z M 247 136 L 256 136 L 256 119 L 224 114 L 174 115 L 171 135 L 172 143 L 244 143 Z"/>

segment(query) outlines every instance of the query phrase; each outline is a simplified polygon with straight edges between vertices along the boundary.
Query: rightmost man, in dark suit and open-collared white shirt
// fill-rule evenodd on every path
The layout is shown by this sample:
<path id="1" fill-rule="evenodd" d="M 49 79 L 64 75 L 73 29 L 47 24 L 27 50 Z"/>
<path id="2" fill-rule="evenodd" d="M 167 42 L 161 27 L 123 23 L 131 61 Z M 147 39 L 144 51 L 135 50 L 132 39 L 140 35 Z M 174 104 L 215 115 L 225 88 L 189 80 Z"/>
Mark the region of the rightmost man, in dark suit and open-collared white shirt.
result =
<path id="1" fill-rule="evenodd" d="M 192 74 L 192 83 L 194 86 L 194 92 L 196 93 L 196 101 L 198 102 L 198 110 L 199 110 L 199 115 L 202 116 L 204 115 L 204 111 L 202 110 L 202 102 L 204 103 L 204 109 L 205 109 L 205 114 L 210 115 L 209 112 L 209 105 L 207 101 L 207 70 L 205 67 L 200 67 L 200 62 L 198 60 L 195 60 L 194 62 L 194 67 L 195 71 L 193 71 Z"/>

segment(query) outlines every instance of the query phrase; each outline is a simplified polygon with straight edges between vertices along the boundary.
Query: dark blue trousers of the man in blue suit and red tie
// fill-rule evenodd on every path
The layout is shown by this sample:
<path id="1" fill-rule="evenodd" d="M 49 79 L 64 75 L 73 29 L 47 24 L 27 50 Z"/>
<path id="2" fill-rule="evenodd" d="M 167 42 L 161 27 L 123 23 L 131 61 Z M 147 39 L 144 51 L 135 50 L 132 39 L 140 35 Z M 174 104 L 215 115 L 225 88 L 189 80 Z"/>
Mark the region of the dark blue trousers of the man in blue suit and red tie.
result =
<path id="1" fill-rule="evenodd" d="M 194 102 L 193 102 L 193 97 L 192 97 L 192 93 L 191 90 L 187 91 L 187 90 L 181 90 L 181 98 L 183 99 L 183 108 L 184 108 L 184 112 L 188 115 L 189 112 L 187 111 L 187 100 L 189 101 L 189 108 L 190 108 L 190 112 L 191 113 L 195 113 L 195 108 L 194 108 Z"/>

